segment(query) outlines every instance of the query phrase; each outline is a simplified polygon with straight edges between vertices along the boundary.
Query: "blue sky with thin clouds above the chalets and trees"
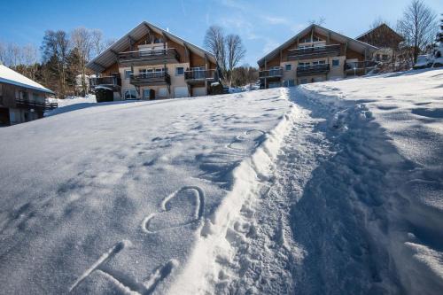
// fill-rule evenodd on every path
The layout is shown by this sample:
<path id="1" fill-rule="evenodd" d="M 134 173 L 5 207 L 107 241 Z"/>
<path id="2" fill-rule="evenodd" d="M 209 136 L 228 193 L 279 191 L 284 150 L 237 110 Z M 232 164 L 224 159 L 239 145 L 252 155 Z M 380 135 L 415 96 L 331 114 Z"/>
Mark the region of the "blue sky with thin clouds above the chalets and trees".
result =
<path id="1" fill-rule="evenodd" d="M 323 27 L 355 37 L 374 19 L 395 24 L 409 0 L 0 0 L 0 42 L 40 46 L 47 29 L 99 28 L 106 38 L 120 38 L 147 20 L 168 28 L 190 43 L 203 44 L 206 28 L 219 25 L 240 35 L 247 50 L 244 63 L 284 43 L 309 20 L 323 17 Z M 443 0 L 424 0 L 436 13 Z"/>

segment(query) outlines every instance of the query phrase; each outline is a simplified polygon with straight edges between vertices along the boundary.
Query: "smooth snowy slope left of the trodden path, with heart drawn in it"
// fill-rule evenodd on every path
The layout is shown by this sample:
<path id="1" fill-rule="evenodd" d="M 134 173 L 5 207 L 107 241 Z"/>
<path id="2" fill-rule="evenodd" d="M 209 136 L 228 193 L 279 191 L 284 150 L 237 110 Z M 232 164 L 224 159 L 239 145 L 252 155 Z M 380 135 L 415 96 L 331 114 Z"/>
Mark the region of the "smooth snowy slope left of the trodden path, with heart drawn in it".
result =
<path id="1" fill-rule="evenodd" d="M 276 127 L 281 90 L 96 106 L 0 130 L 2 292 L 163 292 Z"/>

